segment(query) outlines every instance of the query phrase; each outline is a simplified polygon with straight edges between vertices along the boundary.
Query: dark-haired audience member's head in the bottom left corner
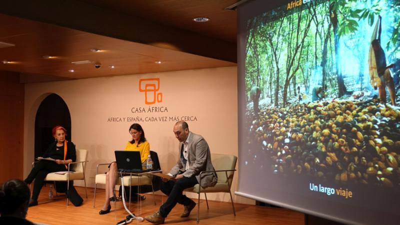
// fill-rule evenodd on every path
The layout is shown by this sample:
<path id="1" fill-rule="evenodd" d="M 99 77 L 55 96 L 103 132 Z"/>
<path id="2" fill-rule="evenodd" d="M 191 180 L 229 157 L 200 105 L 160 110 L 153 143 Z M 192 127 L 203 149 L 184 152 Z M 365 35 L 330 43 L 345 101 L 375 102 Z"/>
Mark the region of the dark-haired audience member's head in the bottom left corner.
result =
<path id="1" fill-rule="evenodd" d="M 1 216 L 25 218 L 29 198 L 29 187 L 22 180 L 10 179 L 4 182 L 0 190 Z"/>

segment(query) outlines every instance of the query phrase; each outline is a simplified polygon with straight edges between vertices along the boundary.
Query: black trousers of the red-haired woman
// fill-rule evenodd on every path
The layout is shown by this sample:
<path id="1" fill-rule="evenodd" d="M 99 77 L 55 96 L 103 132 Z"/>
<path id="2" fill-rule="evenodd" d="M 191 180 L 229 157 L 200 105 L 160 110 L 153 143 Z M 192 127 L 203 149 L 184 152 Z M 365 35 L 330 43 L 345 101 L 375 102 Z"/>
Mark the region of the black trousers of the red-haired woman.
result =
<path id="1" fill-rule="evenodd" d="M 54 161 L 49 160 L 40 160 L 35 163 L 32 170 L 30 170 L 29 175 L 24 180 L 25 183 L 29 184 L 34 179 L 33 191 L 32 191 L 32 199 L 37 200 L 39 196 L 40 189 L 43 186 L 44 178 L 46 178 L 47 173 L 56 172 L 56 171 L 65 171 L 67 170 L 63 164 L 57 164 Z"/>

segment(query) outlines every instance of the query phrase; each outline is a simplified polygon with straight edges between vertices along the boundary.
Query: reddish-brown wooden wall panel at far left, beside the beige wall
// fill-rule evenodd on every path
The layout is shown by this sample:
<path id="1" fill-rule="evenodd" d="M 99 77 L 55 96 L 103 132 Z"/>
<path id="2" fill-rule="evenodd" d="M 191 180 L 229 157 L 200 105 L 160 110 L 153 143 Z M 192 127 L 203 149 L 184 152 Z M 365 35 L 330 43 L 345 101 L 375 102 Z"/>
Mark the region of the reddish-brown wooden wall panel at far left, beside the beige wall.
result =
<path id="1" fill-rule="evenodd" d="M 23 107 L 19 73 L 0 71 L 0 183 L 23 179 Z"/>

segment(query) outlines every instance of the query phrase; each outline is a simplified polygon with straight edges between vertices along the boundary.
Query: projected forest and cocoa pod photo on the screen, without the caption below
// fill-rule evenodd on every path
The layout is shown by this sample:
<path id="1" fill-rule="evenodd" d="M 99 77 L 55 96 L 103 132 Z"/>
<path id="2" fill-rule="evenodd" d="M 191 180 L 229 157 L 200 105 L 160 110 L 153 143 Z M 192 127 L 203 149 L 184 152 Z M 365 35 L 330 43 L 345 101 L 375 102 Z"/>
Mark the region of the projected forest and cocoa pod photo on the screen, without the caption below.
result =
<path id="1" fill-rule="evenodd" d="M 247 21 L 249 154 L 266 171 L 400 189 L 400 1 L 292 1 Z"/>

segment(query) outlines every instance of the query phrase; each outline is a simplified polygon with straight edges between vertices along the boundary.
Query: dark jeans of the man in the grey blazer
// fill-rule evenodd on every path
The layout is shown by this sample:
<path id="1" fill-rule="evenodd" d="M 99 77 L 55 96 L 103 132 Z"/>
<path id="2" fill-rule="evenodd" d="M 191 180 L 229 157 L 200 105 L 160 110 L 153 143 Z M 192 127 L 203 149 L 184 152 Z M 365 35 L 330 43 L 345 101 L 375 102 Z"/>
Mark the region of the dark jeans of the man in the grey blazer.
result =
<path id="1" fill-rule="evenodd" d="M 176 203 L 188 205 L 191 201 L 190 198 L 182 194 L 183 190 L 197 184 L 196 177 L 182 177 L 176 181 L 168 180 L 167 182 L 161 182 L 162 193 L 168 195 L 165 203 L 159 207 L 159 214 L 162 217 L 166 217 Z"/>

